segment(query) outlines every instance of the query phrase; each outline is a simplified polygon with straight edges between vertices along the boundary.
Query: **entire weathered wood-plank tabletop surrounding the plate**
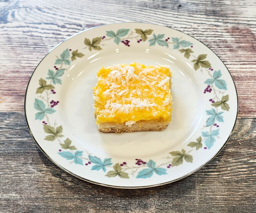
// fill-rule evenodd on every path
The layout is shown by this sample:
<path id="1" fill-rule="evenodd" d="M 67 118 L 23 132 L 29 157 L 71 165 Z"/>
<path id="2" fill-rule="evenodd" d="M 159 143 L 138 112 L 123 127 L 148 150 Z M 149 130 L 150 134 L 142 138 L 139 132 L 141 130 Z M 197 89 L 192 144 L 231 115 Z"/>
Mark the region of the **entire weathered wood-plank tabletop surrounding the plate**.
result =
<path id="1" fill-rule="evenodd" d="M 113 189 L 64 172 L 37 147 L 24 96 L 40 60 L 63 39 L 115 22 L 181 30 L 210 47 L 237 86 L 239 117 L 225 148 L 180 181 Z M 256 212 L 255 0 L 1 0 L 0 212 Z"/>

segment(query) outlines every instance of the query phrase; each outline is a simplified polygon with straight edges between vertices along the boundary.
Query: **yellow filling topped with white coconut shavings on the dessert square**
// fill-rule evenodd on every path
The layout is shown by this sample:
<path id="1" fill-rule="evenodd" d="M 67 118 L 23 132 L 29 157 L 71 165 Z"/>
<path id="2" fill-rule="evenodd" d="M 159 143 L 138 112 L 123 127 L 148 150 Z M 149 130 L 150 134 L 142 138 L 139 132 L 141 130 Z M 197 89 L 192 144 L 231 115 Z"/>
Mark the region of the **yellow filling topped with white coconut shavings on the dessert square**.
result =
<path id="1" fill-rule="evenodd" d="M 93 88 L 96 124 L 131 125 L 139 120 L 171 121 L 171 73 L 164 66 L 136 62 L 102 67 Z"/>

